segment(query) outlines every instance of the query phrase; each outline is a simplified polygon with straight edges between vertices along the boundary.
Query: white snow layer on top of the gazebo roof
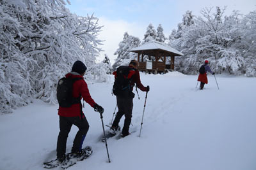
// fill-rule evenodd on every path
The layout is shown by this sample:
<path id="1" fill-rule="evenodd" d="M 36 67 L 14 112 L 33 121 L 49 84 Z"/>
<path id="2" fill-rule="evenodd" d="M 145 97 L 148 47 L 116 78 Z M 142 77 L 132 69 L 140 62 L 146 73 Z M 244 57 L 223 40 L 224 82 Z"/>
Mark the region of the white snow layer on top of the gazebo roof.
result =
<path id="1" fill-rule="evenodd" d="M 129 51 L 130 52 L 139 52 L 139 51 L 143 51 L 143 50 L 164 50 L 166 52 L 174 53 L 176 56 L 183 55 L 183 53 L 179 52 L 178 50 L 175 50 L 174 48 L 167 46 L 164 43 L 161 43 L 159 41 L 149 41 L 148 43 L 145 43 L 136 48 L 132 48 Z"/>

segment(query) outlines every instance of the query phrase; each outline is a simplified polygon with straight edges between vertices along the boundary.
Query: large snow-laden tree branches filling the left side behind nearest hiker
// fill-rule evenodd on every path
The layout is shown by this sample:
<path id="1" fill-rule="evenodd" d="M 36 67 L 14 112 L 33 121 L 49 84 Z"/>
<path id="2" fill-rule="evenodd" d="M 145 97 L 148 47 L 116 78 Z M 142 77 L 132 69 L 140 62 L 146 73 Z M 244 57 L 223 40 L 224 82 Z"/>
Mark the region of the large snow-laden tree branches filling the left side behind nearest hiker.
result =
<path id="1" fill-rule="evenodd" d="M 95 66 L 100 28 L 97 18 L 77 17 L 63 0 L 0 1 L 1 112 L 35 97 L 56 103 L 56 83 L 76 60 L 86 74 Z"/>

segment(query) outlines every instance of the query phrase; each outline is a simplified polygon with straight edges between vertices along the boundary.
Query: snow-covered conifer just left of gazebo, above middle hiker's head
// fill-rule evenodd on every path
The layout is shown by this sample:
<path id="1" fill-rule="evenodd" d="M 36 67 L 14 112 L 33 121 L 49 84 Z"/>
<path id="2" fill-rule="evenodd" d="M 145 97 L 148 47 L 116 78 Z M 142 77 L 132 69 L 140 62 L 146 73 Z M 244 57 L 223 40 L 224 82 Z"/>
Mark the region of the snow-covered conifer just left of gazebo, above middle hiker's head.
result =
<path id="1" fill-rule="evenodd" d="M 113 64 L 113 70 L 121 65 L 128 65 L 132 59 L 136 59 L 138 56 L 136 53 L 129 52 L 131 48 L 140 46 L 140 39 L 134 36 L 130 36 L 127 32 L 124 33 L 124 39 L 119 43 L 119 48 L 114 55 L 117 55 L 115 63 Z"/>

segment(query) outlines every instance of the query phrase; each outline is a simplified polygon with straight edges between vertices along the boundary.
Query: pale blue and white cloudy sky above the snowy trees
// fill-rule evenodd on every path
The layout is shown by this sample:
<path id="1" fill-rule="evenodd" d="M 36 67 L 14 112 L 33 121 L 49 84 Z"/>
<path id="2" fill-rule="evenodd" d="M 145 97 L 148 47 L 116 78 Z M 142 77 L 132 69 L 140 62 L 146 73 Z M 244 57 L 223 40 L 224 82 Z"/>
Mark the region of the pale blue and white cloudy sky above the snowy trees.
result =
<path id="1" fill-rule="evenodd" d="M 124 32 L 142 40 L 150 23 L 155 29 L 161 24 L 164 35 L 168 37 L 173 29 L 177 29 L 177 24 L 187 10 L 196 16 L 205 7 L 227 6 L 225 15 L 230 15 L 233 10 L 242 14 L 256 10 L 255 0 L 70 0 L 70 3 L 67 8 L 72 13 L 79 16 L 94 13 L 94 17 L 99 18 L 99 24 L 104 25 L 99 32 L 99 39 L 105 40 L 104 45 L 100 46 L 104 50 L 100 53 L 100 60 L 106 53 L 112 64 L 117 57 L 114 53 L 118 43 L 124 38 Z"/>

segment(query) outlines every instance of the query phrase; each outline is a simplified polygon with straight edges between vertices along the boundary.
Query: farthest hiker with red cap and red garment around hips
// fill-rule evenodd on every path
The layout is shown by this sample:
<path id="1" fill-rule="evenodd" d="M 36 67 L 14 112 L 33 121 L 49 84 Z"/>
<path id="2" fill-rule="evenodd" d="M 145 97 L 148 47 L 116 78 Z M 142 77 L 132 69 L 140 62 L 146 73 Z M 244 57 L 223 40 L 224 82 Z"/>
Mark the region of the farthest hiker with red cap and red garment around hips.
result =
<path id="1" fill-rule="evenodd" d="M 198 76 L 198 80 L 197 81 L 200 81 L 200 90 L 203 90 L 204 89 L 204 85 L 208 83 L 208 80 L 207 80 L 207 71 L 209 71 L 211 74 L 215 74 L 214 72 L 212 72 L 211 68 L 209 67 L 208 65 L 208 60 L 205 60 L 204 62 L 204 65 L 202 65 L 200 67 L 200 74 Z M 201 71 L 202 69 L 202 71 Z"/>

